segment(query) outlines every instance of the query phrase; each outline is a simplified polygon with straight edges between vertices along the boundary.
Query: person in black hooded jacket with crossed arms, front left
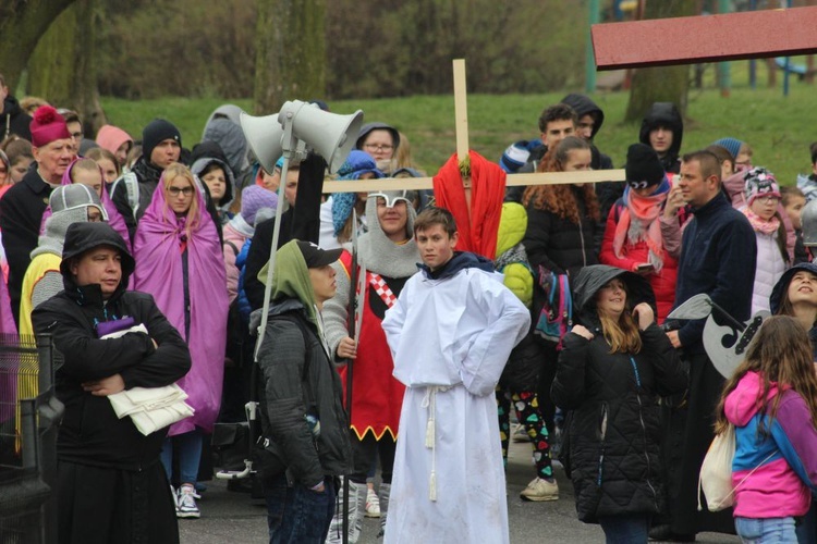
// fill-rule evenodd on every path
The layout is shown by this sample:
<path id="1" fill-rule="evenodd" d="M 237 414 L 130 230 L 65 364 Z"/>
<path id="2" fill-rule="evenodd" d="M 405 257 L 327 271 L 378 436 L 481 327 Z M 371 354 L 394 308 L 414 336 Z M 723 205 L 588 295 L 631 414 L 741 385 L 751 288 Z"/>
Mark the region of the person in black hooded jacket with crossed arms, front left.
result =
<path id="1" fill-rule="evenodd" d="M 63 358 L 54 382 L 65 405 L 57 437 L 59 541 L 176 543 L 159 462 L 167 428 L 143 434 L 130 417 L 117 417 L 109 396 L 175 383 L 190 370 L 187 345 L 150 295 L 126 290 L 135 262 L 110 225 L 69 226 L 62 258 L 65 289 L 32 314 L 35 332 L 50 333 Z"/>

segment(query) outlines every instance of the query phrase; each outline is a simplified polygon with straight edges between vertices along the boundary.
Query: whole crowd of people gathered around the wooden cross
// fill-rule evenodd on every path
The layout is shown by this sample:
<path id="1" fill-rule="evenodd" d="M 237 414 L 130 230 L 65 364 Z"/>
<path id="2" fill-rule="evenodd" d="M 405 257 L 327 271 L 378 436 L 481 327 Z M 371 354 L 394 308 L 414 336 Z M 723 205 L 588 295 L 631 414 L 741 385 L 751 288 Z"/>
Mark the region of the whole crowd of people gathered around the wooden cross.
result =
<path id="1" fill-rule="evenodd" d="M 538 138 L 471 152 L 470 188 L 453 157 L 434 190 L 325 196 L 321 157 L 267 171 L 232 104 L 187 150 L 168 120 L 92 140 L 76 113 L 28 116 L 0 89 L 0 310 L 63 360 L 60 542 L 178 542 L 215 425 L 251 399 L 270 542 L 357 542 L 364 516 L 389 543 L 509 542 L 511 438 L 535 467 L 521 498 L 558 500 L 563 470 L 610 543 L 817 539 L 817 143 L 781 186 L 734 137 L 682 153 L 682 115 L 656 103 L 625 182 L 505 190 L 517 172 L 612 169 L 602 110 L 572 94 Z M 333 177 L 419 175 L 377 122 Z M 739 322 L 776 316 L 731 378 L 705 320 L 670 318 L 702 294 Z M 150 433 L 106 398 L 174 383 L 194 415 Z M 696 484 L 728 424 L 735 507 L 710 512 Z"/>

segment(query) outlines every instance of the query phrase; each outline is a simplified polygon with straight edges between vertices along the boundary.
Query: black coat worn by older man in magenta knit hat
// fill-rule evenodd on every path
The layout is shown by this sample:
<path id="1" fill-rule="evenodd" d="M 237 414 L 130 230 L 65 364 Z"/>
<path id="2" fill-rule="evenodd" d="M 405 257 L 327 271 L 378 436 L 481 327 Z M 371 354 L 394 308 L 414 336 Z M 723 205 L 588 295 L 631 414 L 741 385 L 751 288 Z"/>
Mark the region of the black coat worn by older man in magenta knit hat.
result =
<path id="1" fill-rule="evenodd" d="M 23 277 L 32 262 L 31 254 L 37 247 L 42 212 L 46 211 L 51 190 L 51 186 L 37 172 L 37 164 L 32 164 L 23 180 L 0 199 L 0 230 L 9 260 L 9 297 L 17 323 Z"/>

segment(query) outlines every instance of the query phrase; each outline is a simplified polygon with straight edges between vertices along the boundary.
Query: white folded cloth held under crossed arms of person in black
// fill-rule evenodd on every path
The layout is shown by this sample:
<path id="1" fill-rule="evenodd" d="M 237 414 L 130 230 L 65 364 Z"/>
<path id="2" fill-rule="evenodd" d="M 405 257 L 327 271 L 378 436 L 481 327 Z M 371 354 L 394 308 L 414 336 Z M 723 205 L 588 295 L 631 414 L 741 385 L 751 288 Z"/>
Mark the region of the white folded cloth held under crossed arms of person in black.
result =
<path id="1" fill-rule="evenodd" d="M 106 334 L 100 339 L 119 338 L 126 333 L 136 332 L 147 334 L 147 329 L 139 324 Z M 133 387 L 109 395 L 108 398 L 117 417 L 122 419 L 130 416 L 136 429 L 145 436 L 194 413 L 193 407 L 184 401 L 187 394 L 176 384 L 163 387 Z"/>

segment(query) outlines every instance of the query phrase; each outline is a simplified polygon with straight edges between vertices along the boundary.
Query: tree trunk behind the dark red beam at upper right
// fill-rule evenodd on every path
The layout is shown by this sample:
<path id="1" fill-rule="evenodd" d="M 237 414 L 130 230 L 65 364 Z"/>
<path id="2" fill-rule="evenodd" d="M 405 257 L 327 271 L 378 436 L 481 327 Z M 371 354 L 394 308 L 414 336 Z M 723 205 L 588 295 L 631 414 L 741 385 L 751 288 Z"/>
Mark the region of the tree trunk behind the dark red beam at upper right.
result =
<path id="1" fill-rule="evenodd" d="M 650 0 L 644 18 L 683 17 L 695 14 L 696 0 Z M 660 47 L 660 44 L 645 44 Z M 690 66 L 659 66 L 637 70 L 630 88 L 630 102 L 625 122 L 639 121 L 654 102 L 672 102 L 681 115 L 686 112 L 686 90 L 690 86 Z"/>

